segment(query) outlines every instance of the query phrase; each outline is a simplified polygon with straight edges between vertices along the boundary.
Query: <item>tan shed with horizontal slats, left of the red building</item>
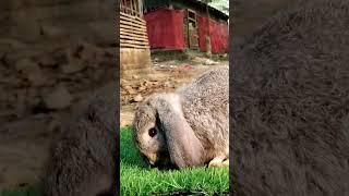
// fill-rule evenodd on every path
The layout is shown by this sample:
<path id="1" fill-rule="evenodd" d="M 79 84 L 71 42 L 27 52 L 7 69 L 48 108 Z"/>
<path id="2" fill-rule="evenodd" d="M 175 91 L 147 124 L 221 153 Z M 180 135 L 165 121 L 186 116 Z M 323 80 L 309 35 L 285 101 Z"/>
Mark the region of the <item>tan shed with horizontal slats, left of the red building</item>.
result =
<path id="1" fill-rule="evenodd" d="M 143 0 L 120 1 L 121 76 L 151 69 L 151 49 L 143 19 Z"/>

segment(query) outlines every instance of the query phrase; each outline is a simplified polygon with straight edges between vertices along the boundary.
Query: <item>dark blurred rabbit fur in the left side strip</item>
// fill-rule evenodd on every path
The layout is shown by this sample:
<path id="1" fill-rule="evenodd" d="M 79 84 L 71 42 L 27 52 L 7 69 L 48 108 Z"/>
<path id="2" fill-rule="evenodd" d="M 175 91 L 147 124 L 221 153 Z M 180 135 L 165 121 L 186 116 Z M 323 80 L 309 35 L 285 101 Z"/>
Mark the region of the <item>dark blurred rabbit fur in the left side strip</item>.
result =
<path id="1" fill-rule="evenodd" d="M 44 180 L 47 196 L 96 196 L 109 193 L 117 156 L 117 102 L 111 86 L 99 91 L 72 119 L 52 147 Z"/>

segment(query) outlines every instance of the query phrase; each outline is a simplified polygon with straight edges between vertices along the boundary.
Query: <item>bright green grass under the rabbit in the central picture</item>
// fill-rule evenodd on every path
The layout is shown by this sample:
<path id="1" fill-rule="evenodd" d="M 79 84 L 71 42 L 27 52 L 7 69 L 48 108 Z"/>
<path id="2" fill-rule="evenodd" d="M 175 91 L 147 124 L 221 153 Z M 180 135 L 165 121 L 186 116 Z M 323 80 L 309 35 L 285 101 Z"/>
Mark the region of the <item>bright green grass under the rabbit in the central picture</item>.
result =
<path id="1" fill-rule="evenodd" d="M 149 195 L 181 191 L 205 195 L 229 191 L 228 168 L 200 168 L 185 170 L 151 169 L 135 149 L 128 127 L 120 132 L 121 195 Z"/>

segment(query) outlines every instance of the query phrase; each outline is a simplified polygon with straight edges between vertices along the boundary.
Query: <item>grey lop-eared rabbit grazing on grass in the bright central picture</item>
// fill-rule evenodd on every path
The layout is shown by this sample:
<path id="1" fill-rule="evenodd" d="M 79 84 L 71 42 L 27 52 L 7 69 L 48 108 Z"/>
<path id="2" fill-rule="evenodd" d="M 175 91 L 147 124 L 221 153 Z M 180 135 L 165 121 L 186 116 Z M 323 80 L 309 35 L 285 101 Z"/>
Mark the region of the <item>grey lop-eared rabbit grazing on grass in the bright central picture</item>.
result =
<path id="1" fill-rule="evenodd" d="M 229 70 L 215 69 L 136 109 L 133 139 L 151 166 L 229 166 Z"/>

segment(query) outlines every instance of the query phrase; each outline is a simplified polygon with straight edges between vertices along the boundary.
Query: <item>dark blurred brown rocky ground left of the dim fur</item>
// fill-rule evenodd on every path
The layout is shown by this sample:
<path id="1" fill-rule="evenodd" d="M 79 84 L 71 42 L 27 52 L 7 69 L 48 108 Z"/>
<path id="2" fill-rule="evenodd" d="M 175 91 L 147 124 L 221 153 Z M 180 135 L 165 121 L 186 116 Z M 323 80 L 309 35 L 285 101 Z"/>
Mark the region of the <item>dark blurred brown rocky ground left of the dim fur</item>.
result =
<path id="1" fill-rule="evenodd" d="M 49 144 L 116 76 L 116 2 L 0 2 L 0 195 L 39 182 Z"/>

